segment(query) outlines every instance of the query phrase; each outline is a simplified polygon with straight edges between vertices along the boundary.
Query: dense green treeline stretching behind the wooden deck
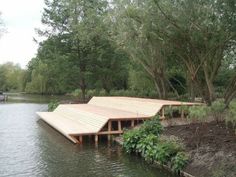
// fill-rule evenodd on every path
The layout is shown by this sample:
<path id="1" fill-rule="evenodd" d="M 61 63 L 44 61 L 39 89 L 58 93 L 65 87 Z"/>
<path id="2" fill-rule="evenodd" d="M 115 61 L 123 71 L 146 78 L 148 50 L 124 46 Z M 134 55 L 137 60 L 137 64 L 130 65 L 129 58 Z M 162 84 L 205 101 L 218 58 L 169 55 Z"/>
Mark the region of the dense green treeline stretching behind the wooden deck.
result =
<path id="1" fill-rule="evenodd" d="M 46 0 L 25 91 L 131 90 L 211 103 L 236 95 L 234 0 Z M 154 93 L 154 94 L 153 94 Z"/>

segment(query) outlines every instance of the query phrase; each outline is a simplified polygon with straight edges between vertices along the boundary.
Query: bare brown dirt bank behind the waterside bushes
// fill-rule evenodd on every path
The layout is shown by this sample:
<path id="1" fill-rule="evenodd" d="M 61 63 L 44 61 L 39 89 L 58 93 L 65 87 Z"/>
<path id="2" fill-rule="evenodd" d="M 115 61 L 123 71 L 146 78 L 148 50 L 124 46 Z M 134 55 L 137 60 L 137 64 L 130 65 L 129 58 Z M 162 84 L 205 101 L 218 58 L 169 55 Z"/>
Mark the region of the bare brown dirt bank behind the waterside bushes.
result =
<path id="1" fill-rule="evenodd" d="M 196 177 L 236 177 L 236 134 L 224 122 L 166 127 L 182 139 L 191 161 L 184 171 Z"/>

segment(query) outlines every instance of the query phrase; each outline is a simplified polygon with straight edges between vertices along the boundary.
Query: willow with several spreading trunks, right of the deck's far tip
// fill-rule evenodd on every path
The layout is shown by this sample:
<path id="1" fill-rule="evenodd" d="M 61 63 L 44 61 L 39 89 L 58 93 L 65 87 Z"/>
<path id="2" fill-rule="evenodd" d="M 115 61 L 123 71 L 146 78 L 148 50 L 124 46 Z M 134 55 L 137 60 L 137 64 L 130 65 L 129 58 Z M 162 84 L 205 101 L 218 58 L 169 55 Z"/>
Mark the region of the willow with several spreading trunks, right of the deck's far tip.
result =
<path id="1" fill-rule="evenodd" d="M 222 1 L 155 0 L 157 9 L 169 22 L 162 32 L 187 70 L 192 97 L 195 92 L 207 103 L 215 99 L 214 80 L 221 66 L 224 50 L 235 38 L 228 18 L 221 11 Z"/>

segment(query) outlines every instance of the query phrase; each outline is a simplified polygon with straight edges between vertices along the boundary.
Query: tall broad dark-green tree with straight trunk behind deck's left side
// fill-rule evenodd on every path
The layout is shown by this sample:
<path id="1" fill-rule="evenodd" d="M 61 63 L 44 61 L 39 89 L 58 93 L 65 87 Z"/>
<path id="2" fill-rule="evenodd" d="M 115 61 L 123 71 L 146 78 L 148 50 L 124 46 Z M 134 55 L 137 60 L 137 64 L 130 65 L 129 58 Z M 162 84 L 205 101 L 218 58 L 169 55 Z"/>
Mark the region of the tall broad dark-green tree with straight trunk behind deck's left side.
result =
<path id="1" fill-rule="evenodd" d="M 26 92 L 61 94 L 80 89 L 74 95 L 85 99 L 88 89 L 104 89 L 107 94 L 127 88 L 129 62 L 109 38 L 108 2 L 46 0 L 45 4 L 42 23 L 47 30 L 38 33 L 47 39 L 29 63 Z M 87 92 L 87 97 L 95 94 Z"/>

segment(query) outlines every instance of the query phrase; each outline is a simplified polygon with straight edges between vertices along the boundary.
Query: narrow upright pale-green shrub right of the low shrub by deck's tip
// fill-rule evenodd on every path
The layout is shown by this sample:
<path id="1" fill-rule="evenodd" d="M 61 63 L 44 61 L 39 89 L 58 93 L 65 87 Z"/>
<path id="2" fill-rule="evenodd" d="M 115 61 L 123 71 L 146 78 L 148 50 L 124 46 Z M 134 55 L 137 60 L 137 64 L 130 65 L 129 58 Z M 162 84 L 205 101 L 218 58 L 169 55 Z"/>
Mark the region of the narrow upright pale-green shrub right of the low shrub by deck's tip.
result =
<path id="1" fill-rule="evenodd" d="M 213 116 L 213 118 L 219 122 L 220 120 L 223 119 L 223 114 L 224 114 L 224 110 L 225 110 L 225 103 L 224 100 L 219 99 L 217 101 L 214 101 L 211 104 L 210 107 L 211 110 L 211 115 Z"/>

